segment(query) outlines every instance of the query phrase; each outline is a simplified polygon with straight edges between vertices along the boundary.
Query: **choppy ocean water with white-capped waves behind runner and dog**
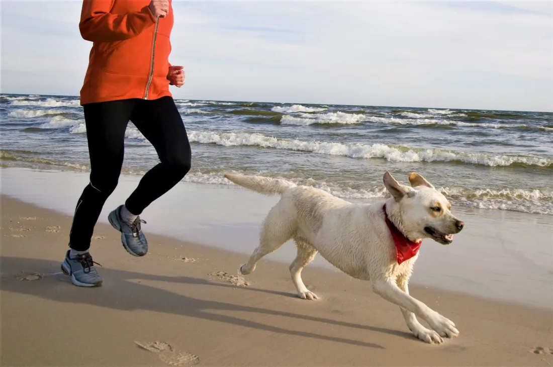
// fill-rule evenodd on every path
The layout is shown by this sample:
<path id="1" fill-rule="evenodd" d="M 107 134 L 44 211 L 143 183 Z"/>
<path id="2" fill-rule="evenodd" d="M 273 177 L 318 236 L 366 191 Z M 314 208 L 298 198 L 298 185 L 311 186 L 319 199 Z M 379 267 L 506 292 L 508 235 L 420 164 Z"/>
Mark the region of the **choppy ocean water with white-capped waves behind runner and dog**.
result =
<path id="1" fill-rule="evenodd" d="M 387 196 L 382 175 L 416 171 L 453 205 L 553 215 L 553 113 L 175 101 L 192 144 L 183 181 L 225 171 L 284 177 L 350 199 Z M 77 97 L 1 95 L 3 167 L 88 171 Z M 129 123 L 124 174 L 155 150 Z"/>

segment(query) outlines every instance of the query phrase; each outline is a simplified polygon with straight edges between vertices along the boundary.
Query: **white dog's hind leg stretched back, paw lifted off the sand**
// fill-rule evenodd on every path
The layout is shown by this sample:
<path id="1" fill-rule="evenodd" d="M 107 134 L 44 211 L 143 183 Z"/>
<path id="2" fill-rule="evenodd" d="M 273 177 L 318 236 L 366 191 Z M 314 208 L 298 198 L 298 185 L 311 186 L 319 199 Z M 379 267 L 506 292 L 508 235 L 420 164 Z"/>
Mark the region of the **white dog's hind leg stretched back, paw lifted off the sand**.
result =
<path id="1" fill-rule="evenodd" d="M 259 235 L 259 246 L 253 251 L 247 264 L 240 267 L 243 275 L 255 270 L 255 264 L 263 256 L 276 251 L 296 232 L 296 219 L 290 211 L 287 211 L 283 202 L 279 201 L 269 211 L 263 222 L 263 228 Z"/>

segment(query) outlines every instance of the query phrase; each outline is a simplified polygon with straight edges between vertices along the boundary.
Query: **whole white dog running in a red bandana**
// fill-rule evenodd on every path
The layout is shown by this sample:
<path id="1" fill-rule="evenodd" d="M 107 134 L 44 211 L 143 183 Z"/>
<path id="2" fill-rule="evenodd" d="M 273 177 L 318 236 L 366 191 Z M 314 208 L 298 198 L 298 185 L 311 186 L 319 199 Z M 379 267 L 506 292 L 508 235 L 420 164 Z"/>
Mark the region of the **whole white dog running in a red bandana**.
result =
<path id="1" fill-rule="evenodd" d="M 409 295 L 408 282 L 423 238 L 450 244 L 453 233 L 464 226 L 451 214 L 451 205 L 417 173 L 409 175 L 411 187 L 400 185 L 389 172 L 384 185 L 392 197 L 377 204 L 354 205 L 316 188 L 260 176 L 225 174 L 237 185 L 264 195 L 280 194 L 260 233 L 259 247 L 242 274 L 250 274 L 263 256 L 293 238 L 298 255 L 290 274 L 298 296 L 317 298 L 301 280 L 301 270 L 317 253 L 346 274 L 371 280 L 373 290 L 400 306 L 409 329 L 427 343 L 458 335 L 455 324 Z M 432 328 L 422 326 L 416 316 Z"/>

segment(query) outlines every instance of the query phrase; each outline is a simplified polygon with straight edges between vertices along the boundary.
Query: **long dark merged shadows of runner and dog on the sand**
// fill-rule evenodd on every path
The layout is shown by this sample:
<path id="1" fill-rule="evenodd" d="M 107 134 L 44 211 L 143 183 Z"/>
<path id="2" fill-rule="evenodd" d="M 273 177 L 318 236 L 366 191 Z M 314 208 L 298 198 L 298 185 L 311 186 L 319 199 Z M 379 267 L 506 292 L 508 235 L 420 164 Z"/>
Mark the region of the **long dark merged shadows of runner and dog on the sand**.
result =
<path id="1" fill-rule="evenodd" d="M 59 271 L 59 263 L 50 260 L 39 259 L 27 259 L 27 258 L 15 258 L 15 257 L 0 257 L 0 268 L 4 276 L 13 275 L 20 270 L 24 271 L 36 271 L 44 274 L 53 273 Z M 32 282 L 21 282 L 2 279 L 0 283 L 0 289 L 2 291 L 24 293 L 28 295 L 38 296 L 46 298 L 48 300 L 54 300 L 58 302 L 69 303 L 85 303 L 88 305 L 95 305 L 106 308 L 113 308 L 114 310 L 149 310 L 155 312 L 172 313 L 182 316 L 196 317 L 206 319 L 210 321 L 218 321 L 223 323 L 234 324 L 243 327 L 249 327 L 254 329 L 260 329 L 280 334 L 298 335 L 306 338 L 314 338 L 320 340 L 330 340 L 332 342 L 347 343 L 351 345 L 358 345 L 361 347 L 371 347 L 383 349 L 381 345 L 361 342 L 359 340 L 351 340 L 346 338 L 331 337 L 326 335 L 320 335 L 311 332 L 289 330 L 280 326 L 273 326 L 269 324 L 259 323 L 255 321 L 249 321 L 247 316 L 244 318 L 225 316 L 221 314 L 211 313 L 210 311 L 226 310 L 226 311 L 242 311 L 250 313 L 260 313 L 272 316 L 286 317 L 286 318 L 298 318 L 311 322 L 332 324 L 341 327 L 351 327 L 357 329 L 364 329 L 372 332 L 380 332 L 396 335 L 398 337 L 413 339 L 413 335 L 406 332 L 395 331 L 387 328 L 372 327 L 366 325 L 359 325 L 354 323 L 348 323 L 343 321 L 337 321 L 333 319 L 326 319 L 321 317 L 307 316 L 303 314 L 296 314 L 291 312 L 283 312 L 270 310 L 268 308 L 249 307 L 242 305 L 234 305 L 233 303 L 198 300 L 196 298 L 179 295 L 170 291 L 152 287 L 149 285 L 140 284 L 137 281 L 165 281 L 174 282 L 179 284 L 194 284 L 204 286 L 206 292 L 213 291 L 213 287 L 232 287 L 236 288 L 240 292 L 261 292 L 269 293 L 273 295 L 294 296 L 291 293 L 276 292 L 264 289 L 255 289 L 252 287 L 236 287 L 229 284 L 221 284 L 216 282 L 210 282 L 206 279 L 199 279 L 195 277 L 187 276 L 163 276 L 163 275 L 151 275 L 141 274 L 139 272 L 114 270 L 108 268 L 101 268 L 102 277 L 109 280 L 109 286 L 106 285 L 98 289 L 82 290 L 76 287 L 72 287 L 67 284 L 67 287 L 60 288 L 59 276 L 46 276 L 41 280 L 41 286 L 36 287 Z M 114 291 L 117 290 L 117 291 Z M 104 293 L 106 296 L 98 297 L 98 291 Z M 107 291 L 108 294 L 105 292 Z M 247 313 L 245 313 L 247 315 Z M 278 324 L 278 323 L 276 323 Z M 313 328 L 316 330 L 316 328 Z"/>

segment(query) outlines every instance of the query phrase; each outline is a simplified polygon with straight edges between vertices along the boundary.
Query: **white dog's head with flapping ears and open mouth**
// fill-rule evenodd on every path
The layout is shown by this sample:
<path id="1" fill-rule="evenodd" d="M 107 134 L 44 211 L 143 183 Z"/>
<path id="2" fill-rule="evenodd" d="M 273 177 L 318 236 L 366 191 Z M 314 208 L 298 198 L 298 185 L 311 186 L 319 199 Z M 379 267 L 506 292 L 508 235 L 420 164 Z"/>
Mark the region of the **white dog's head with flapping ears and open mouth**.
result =
<path id="1" fill-rule="evenodd" d="M 431 238 L 448 245 L 453 234 L 465 223 L 451 213 L 451 205 L 441 192 L 416 172 L 409 175 L 411 187 L 401 185 L 390 172 L 384 174 L 384 186 L 398 204 L 398 220 L 406 237 Z"/>

